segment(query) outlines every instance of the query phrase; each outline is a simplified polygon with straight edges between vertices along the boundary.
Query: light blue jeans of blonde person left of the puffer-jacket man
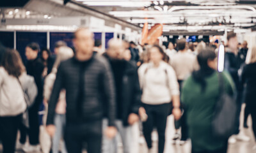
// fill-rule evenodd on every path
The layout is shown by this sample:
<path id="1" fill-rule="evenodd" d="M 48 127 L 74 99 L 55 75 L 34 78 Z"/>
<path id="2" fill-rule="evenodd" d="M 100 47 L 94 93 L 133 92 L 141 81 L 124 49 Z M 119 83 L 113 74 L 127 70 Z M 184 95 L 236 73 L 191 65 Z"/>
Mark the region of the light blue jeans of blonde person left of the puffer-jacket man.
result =
<path id="1" fill-rule="evenodd" d="M 56 127 L 56 133 L 52 138 L 52 153 L 58 153 L 60 148 L 60 140 L 63 138 L 64 128 L 66 124 L 65 114 L 56 113 L 54 117 L 54 125 Z M 61 153 L 67 153 L 65 142 L 61 147 Z"/>

